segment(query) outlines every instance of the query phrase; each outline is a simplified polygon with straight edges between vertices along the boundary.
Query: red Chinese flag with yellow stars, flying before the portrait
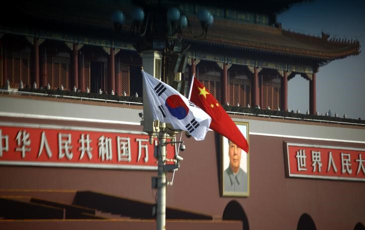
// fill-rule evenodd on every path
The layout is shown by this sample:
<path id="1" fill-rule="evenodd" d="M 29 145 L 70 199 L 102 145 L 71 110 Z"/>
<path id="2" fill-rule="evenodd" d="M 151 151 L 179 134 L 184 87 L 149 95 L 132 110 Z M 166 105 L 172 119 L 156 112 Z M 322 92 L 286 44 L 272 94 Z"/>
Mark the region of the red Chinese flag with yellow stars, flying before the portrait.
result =
<path id="1" fill-rule="evenodd" d="M 227 137 L 248 153 L 248 143 L 246 138 L 242 135 L 241 131 L 227 114 L 226 110 L 224 110 L 217 99 L 213 97 L 213 95 L 200 81 L 198 81 L 197 78 L 193 79 L 194 82 L 190 101 L 199 106 L 212 117 L 212 122 L 209 128 Z"/>

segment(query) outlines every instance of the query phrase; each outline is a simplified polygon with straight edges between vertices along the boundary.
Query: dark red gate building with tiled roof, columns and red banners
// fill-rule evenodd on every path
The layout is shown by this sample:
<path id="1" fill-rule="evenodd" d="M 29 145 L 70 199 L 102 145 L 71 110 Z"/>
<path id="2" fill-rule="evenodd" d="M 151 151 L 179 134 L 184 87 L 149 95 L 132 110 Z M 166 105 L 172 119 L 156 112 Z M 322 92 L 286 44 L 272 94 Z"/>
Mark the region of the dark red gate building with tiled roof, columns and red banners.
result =
<path id="1" fill-rule="evenodd" d="M 173 182 L 167 228 L 363 229 L 365 127 L 315 116 L 320 67 L 357 55 L 360 45 L 282 29 L 275 14 L 290 3 L 250 11 L 174 3 L 189 27 L 178 39 L 167 36 L 159 51 L 153 47 L 158 28 L 148 31 L 148 19 L 157 23 L 153 12 L 168 4 L 22 1 L 2 15 L 0 225 L 155 226 L 154 149 L 138 116 L 140 69 L 153 64 L 152 75 L 186 95 L 195 74 L 222 105 L 231 105 L 226 108 L 247 130 L 250 146 L 248 191 L 227 194 L 222 137 L 213 131 L 204 141 L 183 137 L 184 160 L 167 173 Z M 115 9 L 128 16 L 135 6 L 146 12 L 145 27 L 113 24 Z M 200 8 L 214 16 L 208 32 L 196 16 Z M 136 28 L 146 34 L 138 37 Z M 285 113 L 287 82 L 296 75 L 309 81 L 307 116 Z M 173 158 L 174 146 L 167 154 Z"/>

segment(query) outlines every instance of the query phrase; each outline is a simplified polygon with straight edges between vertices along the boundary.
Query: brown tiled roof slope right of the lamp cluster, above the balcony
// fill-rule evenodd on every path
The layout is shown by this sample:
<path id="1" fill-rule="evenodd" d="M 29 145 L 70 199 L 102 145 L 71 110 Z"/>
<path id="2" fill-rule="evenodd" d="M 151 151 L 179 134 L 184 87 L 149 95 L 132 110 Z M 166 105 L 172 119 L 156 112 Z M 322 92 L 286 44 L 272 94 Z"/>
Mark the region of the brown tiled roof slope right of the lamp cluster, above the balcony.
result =
<path id="1" fill-rule="evenodd" d="M 193 31 L 198 34 L 201 29 L 195 26 Z M 341 59 L 360 52 L 358 41 L 331 41 L 333 38 L 328 39 L 325 34 L 314 37 L 282 30 L 280 27 L 232 21 L 216 20 L 208 29 L 206 37 L 196 37 L 193 33 L 186 33 L 183 39 L 188 43 L 204 46 L 322 61 Z"/>

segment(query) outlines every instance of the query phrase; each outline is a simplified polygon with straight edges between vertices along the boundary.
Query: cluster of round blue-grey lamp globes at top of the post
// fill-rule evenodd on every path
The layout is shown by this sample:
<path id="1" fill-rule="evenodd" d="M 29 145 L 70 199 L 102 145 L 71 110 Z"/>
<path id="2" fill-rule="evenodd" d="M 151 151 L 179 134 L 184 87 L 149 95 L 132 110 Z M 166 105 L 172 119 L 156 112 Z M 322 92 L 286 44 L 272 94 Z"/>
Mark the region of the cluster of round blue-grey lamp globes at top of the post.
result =
<path id="1" fill-rule="evenodd" d="M 129 24 L 127 21 L 129 20 Z M 126 18 L 122 11 L 115 11 L 112 14 L 112 22 L 115 30 L 136 42 L 136 50 L 157 50 L 163 51 L 166 47 L 173 50 L 173 44 L 176 40 L 181 41 L 184 31 L 187 29 L 194 37 L 205 37 L 209 26 L 214 22 L 213 15 L 207 9 L 198 11 L 198 19 L 201 23 L 202 32 L 194 33 L 192 25 L 186 14 L 181 13 L 176 7 L 166 8 L 164 5 L 151 4 L 134 8 L 130 12 L 130 17 Z M 187 49 L 175 50 L 175 53 L 181 53 Z"/>

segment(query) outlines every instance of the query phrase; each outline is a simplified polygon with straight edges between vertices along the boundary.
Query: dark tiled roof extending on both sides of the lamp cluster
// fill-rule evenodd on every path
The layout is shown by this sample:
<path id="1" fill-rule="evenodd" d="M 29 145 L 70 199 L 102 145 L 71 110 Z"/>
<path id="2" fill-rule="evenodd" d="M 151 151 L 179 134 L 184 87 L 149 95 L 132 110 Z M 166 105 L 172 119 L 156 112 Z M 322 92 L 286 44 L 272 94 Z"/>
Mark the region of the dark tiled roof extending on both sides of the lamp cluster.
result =
<path id="1" fill-rule="evenodd" d="M 67 6 L 58 3 L 58 7 L 40 7 L 31 3 L 23 4 L 8 12 L 0 19 L 0 28 L 6 22 L 15 21 L 19 25 L 32 25 L 41 29 L 42 25 L 53 30 L 66 32 L 87 32 L 89 36 L 113 35 L 114 27 L 111 22 L 111 8 L 95 9 L 94 6 L 75 5 L 67 11 Z M 77 14 L 76 14 L 77 12 Z M 5 20 L 6 19 L 6 20 Z M 201 26 L 196 16 L 189 16 L 192 30 L 198 34 Z M 34 25 L 36 24 L 36 25 Z M 130 26 L 123 26 L 130 31 Z M 328 36 L 307 36 L 282 30 L 281 27 L 271 27 L 260 24 L 249 24 L 222 19 L 215 19 L 205 37 L 197 37 L 191 31 L 184 32 L 182 40 L 186 43 L 209 48 L 224 48 L 231 50 L 252 51 L 286 57 L 298 57 L 315 61 L 332 61 L 357 55 L 360 52 L 358 41 L 331 41 Z"/>

